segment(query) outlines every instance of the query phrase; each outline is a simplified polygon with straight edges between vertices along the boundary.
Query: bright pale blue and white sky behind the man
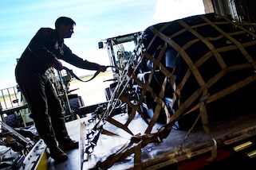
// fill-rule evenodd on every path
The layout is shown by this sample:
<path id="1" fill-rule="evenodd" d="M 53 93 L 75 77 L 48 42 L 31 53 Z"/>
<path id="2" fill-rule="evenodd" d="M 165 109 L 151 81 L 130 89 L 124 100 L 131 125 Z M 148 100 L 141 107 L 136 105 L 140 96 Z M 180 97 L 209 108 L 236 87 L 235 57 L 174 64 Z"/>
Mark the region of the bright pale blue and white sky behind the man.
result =
<path id="1" fill-rule="evenodd" d="M 71 17 L 77 23 L 73 37 L 65 39 L 73 53 L 108 65 L 108 52 L 98 48 L 98 41 L 196 14 L 204 14 L 203 0 L 1 0 L 0 89 L 16 86 L 16 59 L 38 29 L 54 29 L 57 17 Z M 77 75 L 93 73 L 62 64 Z"/>

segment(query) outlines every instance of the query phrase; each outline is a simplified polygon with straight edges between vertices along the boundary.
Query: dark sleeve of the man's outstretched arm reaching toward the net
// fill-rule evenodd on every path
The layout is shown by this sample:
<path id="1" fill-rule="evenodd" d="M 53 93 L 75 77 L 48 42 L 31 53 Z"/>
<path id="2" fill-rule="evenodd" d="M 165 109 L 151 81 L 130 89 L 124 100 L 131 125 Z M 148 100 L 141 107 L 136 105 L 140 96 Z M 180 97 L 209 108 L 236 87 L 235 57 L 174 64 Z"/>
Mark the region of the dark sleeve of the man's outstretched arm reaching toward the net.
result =
<path id="1" fill-rule="evenodd" d="M 89 62 L 88 60 L 83 60 L 81 57 L 73 54 L 73 52 L 65 44 L 63 44 L 63 52 L 64 55 L 58 58 L 60 58 L 61 60 L 65 60 L 65 62 L 72 64 L 77 68 L 97 70 L 100 66 L 99 64 Z"/>

